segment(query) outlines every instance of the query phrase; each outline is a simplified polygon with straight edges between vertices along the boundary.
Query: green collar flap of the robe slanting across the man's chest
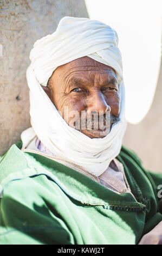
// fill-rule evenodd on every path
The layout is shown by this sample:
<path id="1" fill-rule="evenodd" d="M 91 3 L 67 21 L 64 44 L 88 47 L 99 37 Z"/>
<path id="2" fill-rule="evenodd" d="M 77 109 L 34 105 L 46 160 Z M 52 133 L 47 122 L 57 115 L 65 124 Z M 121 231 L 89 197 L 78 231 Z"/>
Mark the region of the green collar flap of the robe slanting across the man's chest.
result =
<path id="1" fill-rule="evenodd" d="M 67 196 L 87 205 L 103 205 L 119 209 L 144 210 L 145 205 L 137 202 L 133 194 L 117 194 L 98 184 L 86 175 L 36 153 L 23 153 L 12 145 L 0 163 L 2 189 L 9 182 L 35 175 L 46 175 Z M 133 184 L 132 184 L 133 186 Z"/>

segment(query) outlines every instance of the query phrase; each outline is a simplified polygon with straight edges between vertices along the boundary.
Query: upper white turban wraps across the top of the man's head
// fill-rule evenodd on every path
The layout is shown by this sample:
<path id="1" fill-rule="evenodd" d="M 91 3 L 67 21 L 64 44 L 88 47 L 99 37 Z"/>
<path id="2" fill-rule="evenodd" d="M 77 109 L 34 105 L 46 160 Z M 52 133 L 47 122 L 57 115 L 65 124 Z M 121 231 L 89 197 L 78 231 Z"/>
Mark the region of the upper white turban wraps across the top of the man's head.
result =
<path id="1" fill-rule="evenodd" d="M 83 56 L 90 57 L 90 54 L 95 60 L 111 65 L 122 77 L 121 54 L 117 45 L 118 35 L 104 23 L 64 17 L 53 34 L 35 42 L 30 60 L 42 86 L 47 86 L 49 77 L 58 66 Z"/>

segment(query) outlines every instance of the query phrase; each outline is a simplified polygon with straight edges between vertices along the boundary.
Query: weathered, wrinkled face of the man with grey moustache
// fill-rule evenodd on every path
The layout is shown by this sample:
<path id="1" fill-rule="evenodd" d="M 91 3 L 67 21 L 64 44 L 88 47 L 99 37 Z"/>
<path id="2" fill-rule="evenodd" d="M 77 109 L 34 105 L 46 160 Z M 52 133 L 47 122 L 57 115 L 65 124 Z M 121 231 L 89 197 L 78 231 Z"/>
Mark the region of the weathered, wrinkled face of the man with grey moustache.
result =
<path id="1" fill-rule="evenodd" d="M 67 123 L 90 138 L 105 137 L 107 126 L 111 129 L 119 121 L 116 72 L 94 59 L 82 57 L 59 66 L 50 77 L 50 87 L 43 89 Z"/>

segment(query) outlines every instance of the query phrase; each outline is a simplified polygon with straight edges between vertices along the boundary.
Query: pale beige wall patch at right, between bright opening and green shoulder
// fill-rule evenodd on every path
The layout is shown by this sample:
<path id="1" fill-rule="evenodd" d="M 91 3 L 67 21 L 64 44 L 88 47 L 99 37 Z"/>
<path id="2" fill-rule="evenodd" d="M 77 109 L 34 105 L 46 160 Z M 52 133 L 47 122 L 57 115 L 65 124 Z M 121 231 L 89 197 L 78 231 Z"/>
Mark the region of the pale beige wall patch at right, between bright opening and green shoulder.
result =
<path id="1" fill-rule="evenodd" d="M 137 125 L 128 124 L 124 145 L 140 157 L 143 166 L 162 173 L 162 63 L 150 111 Z M 147 93 L 147 92 L 146 92 Z"/>

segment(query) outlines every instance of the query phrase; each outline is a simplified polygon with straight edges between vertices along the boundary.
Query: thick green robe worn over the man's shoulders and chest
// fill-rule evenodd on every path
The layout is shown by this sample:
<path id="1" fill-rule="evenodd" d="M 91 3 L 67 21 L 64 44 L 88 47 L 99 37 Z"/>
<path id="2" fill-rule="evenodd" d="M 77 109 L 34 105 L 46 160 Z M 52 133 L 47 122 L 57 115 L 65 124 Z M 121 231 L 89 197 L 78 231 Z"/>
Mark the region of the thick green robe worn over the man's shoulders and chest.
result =
<path id="1" fill-rule="evenodd" d="M 12 145 L 0 160 L 1 244 L 137 244 L 162 221 L 162 174 L 144 170 L 125 147 L 116 158 L 133 195 L 20 148 Z"/>

